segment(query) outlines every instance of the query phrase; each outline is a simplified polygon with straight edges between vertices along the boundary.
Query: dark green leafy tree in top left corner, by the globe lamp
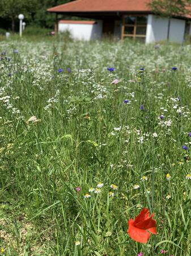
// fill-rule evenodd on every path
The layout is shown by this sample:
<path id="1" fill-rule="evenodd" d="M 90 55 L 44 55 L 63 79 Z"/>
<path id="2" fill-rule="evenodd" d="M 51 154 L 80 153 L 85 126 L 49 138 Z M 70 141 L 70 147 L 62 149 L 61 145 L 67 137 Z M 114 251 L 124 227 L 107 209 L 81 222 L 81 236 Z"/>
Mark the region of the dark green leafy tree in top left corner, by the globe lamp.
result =
<path id="1" fill-rule="evenodd" d="M 11 19 L 12 31 L 14 32 L 15 19 L 18 19 L 18 15 L 22 13 L 28 18 L 39 7 L 38 2 L 38 0 L 1 0 L 0 17 Z"/>

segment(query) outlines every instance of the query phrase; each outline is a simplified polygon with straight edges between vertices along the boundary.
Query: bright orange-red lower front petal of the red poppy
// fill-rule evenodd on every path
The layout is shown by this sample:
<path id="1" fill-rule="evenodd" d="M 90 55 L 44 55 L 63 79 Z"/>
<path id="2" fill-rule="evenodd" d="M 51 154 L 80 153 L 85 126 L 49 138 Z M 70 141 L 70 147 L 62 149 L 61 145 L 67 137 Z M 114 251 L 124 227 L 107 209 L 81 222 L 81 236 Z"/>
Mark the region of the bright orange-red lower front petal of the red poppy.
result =
<path id="1" fill-rule="evenodd" d="M 140 243 L 147 243 L 150 238 L 150 233 L 145 229 L 139 229 L 134 226 L 134 220 L 131 218 L 129 221 L 128 234 L 134 241 Z"/>

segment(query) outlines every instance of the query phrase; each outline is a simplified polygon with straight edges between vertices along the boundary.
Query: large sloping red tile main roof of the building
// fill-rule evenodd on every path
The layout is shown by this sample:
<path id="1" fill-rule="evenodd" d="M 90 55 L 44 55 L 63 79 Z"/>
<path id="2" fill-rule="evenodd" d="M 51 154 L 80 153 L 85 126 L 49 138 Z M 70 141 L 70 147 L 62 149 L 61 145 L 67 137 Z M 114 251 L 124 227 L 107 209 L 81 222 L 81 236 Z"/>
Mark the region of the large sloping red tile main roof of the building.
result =
<path id="1" fill-rule="evenodd" d="M 116 11 L 137 11 L 149 12 L 147 4 L 150 0 L 75 0 L 63 5 L 49 8 L 54 13 L 75 13 L 75 12 L 116 12 Z"/>

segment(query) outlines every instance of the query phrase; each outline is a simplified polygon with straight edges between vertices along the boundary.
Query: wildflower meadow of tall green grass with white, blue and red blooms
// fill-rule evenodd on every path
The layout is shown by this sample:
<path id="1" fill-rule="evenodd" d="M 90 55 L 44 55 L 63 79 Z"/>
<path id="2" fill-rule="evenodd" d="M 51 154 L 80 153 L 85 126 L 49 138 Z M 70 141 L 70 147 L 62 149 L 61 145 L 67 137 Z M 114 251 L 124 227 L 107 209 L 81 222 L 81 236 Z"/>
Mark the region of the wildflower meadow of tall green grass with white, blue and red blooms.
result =
<path id="1" fill-rule="evenodd" d="M 0 255 L 191 255 L 191 46 L 0 42 Z"/>

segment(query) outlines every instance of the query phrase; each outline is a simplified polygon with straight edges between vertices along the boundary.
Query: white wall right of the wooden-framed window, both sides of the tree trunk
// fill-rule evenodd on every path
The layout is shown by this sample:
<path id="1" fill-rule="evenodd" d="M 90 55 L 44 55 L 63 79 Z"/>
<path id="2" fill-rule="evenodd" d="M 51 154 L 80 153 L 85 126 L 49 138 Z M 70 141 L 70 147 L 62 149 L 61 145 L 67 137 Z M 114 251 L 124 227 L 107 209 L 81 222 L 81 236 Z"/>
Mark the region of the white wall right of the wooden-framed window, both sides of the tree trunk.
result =
<path id="1" fill-rule="evenodd" d="M 159 18 L 155 15 L 148 15 L 146 43 L 154 43 L 167 40 L 168 18 Z M 184 40 L 185 20 L 171 19 L 169 29 L 169 41 L 182 43 Z"/>

